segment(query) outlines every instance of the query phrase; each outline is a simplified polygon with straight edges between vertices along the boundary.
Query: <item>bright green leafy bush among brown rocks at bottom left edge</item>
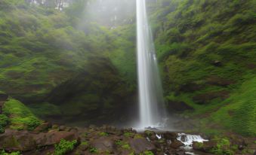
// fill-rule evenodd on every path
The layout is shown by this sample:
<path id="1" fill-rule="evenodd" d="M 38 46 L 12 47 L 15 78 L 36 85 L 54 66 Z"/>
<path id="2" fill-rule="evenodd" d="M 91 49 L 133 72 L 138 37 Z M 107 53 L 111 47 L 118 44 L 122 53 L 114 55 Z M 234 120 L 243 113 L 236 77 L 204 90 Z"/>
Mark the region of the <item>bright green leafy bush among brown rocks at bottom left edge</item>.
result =
<path id="1" fill-rule="evenodd" d="M 54 155 L 64 155 L 76 147 L 77 141 L 66 141 L 61 139 L 59 144 L 54 145 Z"/>

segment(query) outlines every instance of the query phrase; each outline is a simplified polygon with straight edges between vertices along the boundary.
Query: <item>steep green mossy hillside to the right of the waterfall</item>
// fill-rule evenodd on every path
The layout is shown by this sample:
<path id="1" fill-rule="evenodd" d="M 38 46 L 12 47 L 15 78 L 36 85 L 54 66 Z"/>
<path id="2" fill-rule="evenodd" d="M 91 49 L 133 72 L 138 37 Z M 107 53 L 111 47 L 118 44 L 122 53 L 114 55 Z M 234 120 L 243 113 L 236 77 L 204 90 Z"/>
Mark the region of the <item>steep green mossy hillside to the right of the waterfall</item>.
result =
<path id="1" fill-rule="evenodd" d="M 150 5 L 169 109 L 185 103 L 193 109 L 187 115 L 256 135 L 255 6 L 253 0 Z"/>

